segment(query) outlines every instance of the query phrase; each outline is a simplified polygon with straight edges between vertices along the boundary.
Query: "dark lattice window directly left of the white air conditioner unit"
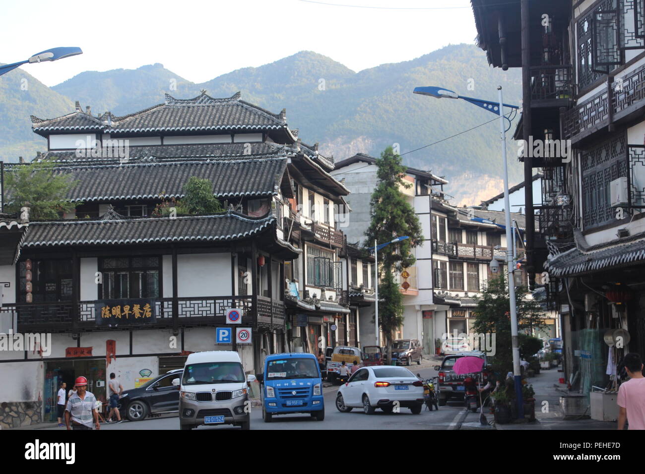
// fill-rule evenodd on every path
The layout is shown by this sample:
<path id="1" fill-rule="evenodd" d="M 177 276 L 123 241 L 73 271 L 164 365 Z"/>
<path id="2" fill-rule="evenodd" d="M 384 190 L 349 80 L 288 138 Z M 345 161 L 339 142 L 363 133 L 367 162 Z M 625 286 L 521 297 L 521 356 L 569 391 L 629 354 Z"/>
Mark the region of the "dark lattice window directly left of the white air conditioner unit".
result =
<path id="1" fill-rule="evenodd" d="M 593 228 L 615 221 L 610 207 L 610 183 L 627 176 L 627 137 L 614 135 L 582 152 L 582 222 Z"/>

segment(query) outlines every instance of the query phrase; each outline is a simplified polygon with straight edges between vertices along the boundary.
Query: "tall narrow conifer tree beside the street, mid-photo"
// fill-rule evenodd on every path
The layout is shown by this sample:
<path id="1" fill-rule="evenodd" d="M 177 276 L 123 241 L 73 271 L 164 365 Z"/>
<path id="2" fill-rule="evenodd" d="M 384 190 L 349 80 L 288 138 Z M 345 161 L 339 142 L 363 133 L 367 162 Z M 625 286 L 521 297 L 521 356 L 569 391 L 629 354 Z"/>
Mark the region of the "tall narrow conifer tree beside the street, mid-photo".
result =
<path id="1" fill-rule="evenodd" d="M 394 273 L 414 264 L 411 250 L 422 243 L 423 235 L 419 218 L 402 193 L 403 188 L 410 188 L 412 184 L 403 180 L 407 168 L 402 164 L 401 156 L 388 146 L 376 160 L 376 165 L 378 183 L 370 201 L 372 222 L 365 232 L 366 246 L 373 246 L 374 241 L 382 244 L 394 237 L 410 237 L 379 250 L 379 266 L 383 275 L 379 281 L 379 326 L 388 347 L 391 347 L 393 333 L 403 322 L 403 296 Z"/>

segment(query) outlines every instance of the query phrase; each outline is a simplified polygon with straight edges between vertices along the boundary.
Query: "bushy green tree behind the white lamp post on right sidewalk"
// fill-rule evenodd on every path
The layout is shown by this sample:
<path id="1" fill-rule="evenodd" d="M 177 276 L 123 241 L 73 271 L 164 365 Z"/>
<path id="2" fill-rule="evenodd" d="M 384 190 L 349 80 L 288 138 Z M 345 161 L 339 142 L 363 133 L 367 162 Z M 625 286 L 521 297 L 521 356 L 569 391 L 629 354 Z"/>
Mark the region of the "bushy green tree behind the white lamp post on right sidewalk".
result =
<path id="1" fill-rule="evenodd" d="M 515 288 L 518 339 L 522 342 L 526 340 L 524 348 L 526 351 L 531 351 L 531 343 L 522 333 L 531 334 L 533 330 L 546 328 L 546 324 L 542 319 L 540 304 L 533 299 L 528 299 L 527 296 L 528 289 L 525 286 Z M 482 291 L 482 297 L 477 302 L 474 312 L 475 322 L 471 330 L 474 333 L 495 333 L 495 355 L 492 358 L 494 370 L 502 374 L 512 371 L 510 297 L 504 275 L 488 280 L 488 286 Z M 527 354 L 523 355 L 527 356 Z"/>

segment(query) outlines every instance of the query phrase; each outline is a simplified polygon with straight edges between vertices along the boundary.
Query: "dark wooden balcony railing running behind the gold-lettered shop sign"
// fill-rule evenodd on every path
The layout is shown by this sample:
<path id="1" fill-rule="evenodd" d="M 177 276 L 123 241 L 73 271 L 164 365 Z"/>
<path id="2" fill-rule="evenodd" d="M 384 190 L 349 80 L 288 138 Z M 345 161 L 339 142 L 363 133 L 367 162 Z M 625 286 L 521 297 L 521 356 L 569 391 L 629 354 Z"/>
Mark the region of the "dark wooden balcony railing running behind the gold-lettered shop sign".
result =
<path id="1" fill-rule="evenodd" d="M 77 308 L 69 301 L 3 304 L 3 311 L 17 313 L 18 332 L 69 332 L 115 330 L 97 326 L 98 301 L 80 301 Z M 284 303 L 252 295 L 157 298 L 155 321 L 152 324 L 130 324 L 119 330 L 141 328 L 213 327 L 226 324 L 226 310 L 239 308 L 242 323 L 253 328 L 283 328 Z M 173 311 L 176 304 L 177 312 Z M 256 316 L 257 315 L 257 316 Z"/>

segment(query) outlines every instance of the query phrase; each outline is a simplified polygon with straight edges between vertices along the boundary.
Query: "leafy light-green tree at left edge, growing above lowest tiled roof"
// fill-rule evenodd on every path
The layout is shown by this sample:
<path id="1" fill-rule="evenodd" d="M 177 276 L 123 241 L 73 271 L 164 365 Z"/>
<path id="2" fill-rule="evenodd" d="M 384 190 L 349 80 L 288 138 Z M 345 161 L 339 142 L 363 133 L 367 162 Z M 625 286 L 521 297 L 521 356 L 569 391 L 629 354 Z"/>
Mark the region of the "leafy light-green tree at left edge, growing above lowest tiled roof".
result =
<path id="1" fill-rule="evenodd" d="M 37 161 L 5 172 L 5 211 L 20 213 L 26 206 L 30 208 L 29 219 L 57 219 L 61 212 L 71 212 L 82 204 L 65 199 L 78 181 L 56 173 L 54 166 L 50 161 Z"/>

